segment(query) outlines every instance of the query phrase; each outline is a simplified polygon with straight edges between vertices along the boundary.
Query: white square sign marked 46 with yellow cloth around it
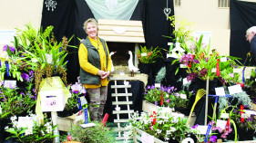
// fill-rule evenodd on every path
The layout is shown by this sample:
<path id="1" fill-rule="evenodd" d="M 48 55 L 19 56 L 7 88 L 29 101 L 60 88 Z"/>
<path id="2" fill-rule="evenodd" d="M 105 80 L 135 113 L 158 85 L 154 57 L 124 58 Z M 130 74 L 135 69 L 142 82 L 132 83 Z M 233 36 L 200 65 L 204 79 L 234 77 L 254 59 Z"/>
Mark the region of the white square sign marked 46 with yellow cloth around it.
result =
<path id="1" fill-rule="evenodd" d="M 62 90 L 40 91 L 42 111 L 62 111 L 65 107 L 65 96 Z"/>

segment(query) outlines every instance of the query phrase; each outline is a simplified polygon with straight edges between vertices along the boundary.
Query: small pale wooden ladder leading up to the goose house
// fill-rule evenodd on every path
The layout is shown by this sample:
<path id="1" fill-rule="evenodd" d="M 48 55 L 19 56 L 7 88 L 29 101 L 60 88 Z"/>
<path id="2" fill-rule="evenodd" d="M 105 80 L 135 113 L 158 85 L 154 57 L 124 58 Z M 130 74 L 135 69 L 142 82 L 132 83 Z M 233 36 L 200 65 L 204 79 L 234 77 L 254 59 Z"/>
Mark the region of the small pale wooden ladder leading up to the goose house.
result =
<path id="1" fill-rule="evenodd" d="M 118 123 L 118 128 L 114 129 L 114 131 L 118 132 L 118 137 L 116 140 L 124 140 L 125 138 L 121 136 L 121 132 L 128 131 L 126 128 L 121 128 L 120 123 L 128 123 L 128 120 L 131 119 L 130 115 L 134 113 L 134 110 L 130 110 L 129 105 L 132 104 L 132 101 L 128 100 L 129 96 L 132 96 L 132 93 L 128 93 L 128 88 L 131 88 L 131 85 L 118 85 L 117 81 L 124 81 L 126 79 L 115 79 L 114 85 L 111 85 L 111 89 L 115 89 L 115 93 L 112 93 L 111 96 L 116 98 L 116 101 L 112 101 L 112 105 L 116 105 L 115 110 L 113 110 L 113 114 L 117 114 L 117 119 L 114 119 L 115 123 Z M 125 89 L 125 93 L 118 93 L 118 89 Z M 126 101 L 118 101 L 118 97 L 126 97 Z M 127 105 L 127 110 L 121 110 L 119 106 Z M 128 119 L 120 119 L 120 114 L 128 114 Z"/>

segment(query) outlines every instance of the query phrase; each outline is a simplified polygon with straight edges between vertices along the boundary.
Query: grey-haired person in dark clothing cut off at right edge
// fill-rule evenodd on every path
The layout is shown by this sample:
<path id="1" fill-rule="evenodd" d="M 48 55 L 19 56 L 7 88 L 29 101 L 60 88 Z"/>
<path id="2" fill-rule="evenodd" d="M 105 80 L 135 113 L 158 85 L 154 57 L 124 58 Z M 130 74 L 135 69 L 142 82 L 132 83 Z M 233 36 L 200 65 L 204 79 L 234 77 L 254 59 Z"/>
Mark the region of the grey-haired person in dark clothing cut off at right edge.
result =
<path id="1" fill-rule="evenodd" d="M 248 41 L 251 44 L 251 54 L 254 58 L 254 61 L 256 61 L 256 26 L 252 26 L 250 27 L 247 31 L 246 31 L 246 41 Z"/>

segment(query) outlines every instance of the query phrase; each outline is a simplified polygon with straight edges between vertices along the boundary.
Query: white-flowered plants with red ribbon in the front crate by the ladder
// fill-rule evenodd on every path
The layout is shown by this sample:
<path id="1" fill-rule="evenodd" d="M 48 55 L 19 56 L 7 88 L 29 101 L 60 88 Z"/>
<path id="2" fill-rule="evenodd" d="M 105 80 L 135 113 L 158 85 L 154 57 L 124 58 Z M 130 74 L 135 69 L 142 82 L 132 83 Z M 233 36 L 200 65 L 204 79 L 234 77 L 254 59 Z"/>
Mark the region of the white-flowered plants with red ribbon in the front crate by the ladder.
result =
<path id="1" fill-rule="evenodd" d="M 180 142 L 186 138 L 186 133 L 193 132 L 187 125 L 187 118 L 184 118 L 184 115 L 162 110 L 153 111 L 153 114 L 142 112 L 140 116 L 134 113 L 129 122 L 132 128 L 140 129 L 154 138 L 159 138 L 162 142 L 169 139 Z"/>

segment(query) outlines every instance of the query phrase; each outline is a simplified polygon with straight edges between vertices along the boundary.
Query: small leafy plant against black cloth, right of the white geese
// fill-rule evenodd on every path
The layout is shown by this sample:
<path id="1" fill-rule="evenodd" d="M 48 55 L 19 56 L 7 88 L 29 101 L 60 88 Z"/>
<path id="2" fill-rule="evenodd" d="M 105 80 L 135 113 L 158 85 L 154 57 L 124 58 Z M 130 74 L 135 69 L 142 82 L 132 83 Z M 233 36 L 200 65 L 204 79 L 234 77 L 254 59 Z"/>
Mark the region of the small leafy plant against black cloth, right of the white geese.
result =
<path id="1" fill-rule="evenodd" d="M 138 61 L 142 63 L 154 63 L 157 58 L 163 57 L 159 47 L 151 47 L 148 49 L 146 46 L 140 46 L 136 55 L 138 57 Z"/>

